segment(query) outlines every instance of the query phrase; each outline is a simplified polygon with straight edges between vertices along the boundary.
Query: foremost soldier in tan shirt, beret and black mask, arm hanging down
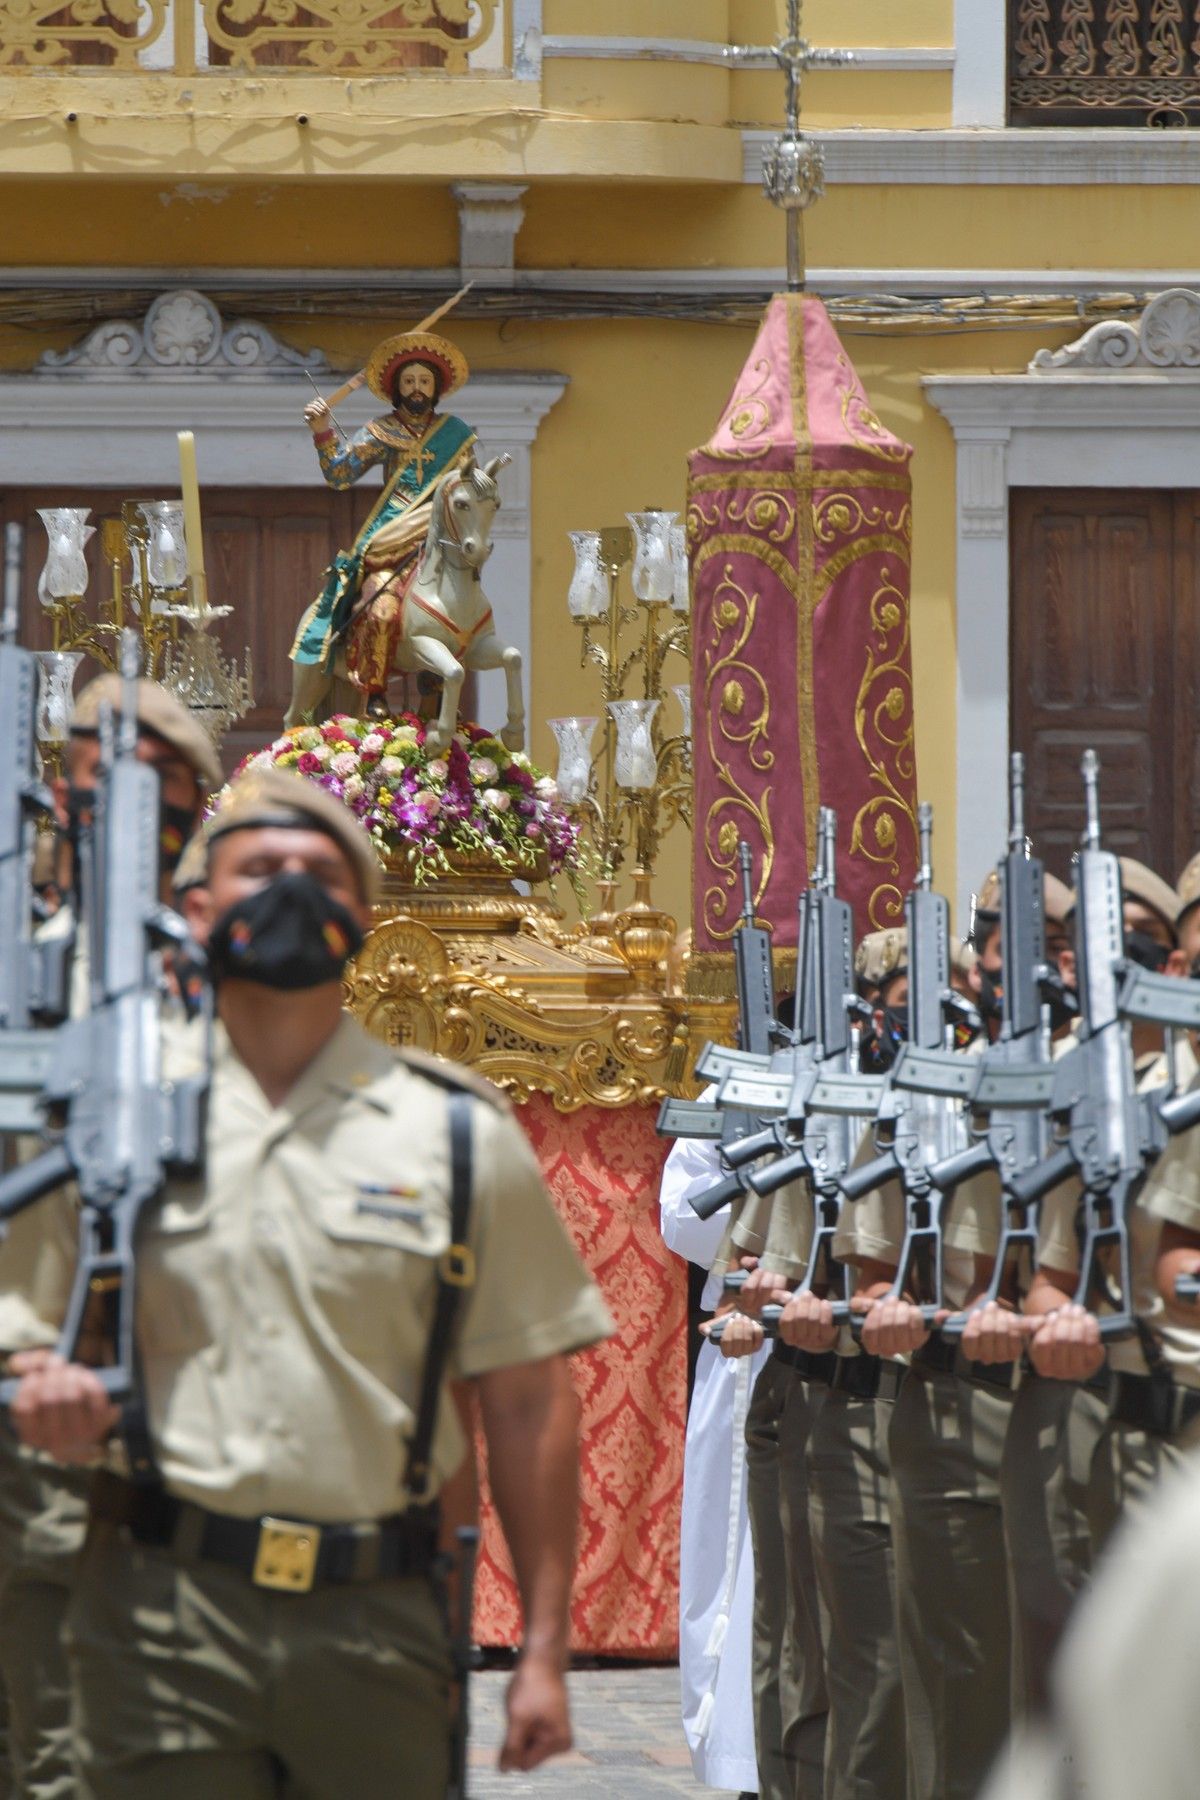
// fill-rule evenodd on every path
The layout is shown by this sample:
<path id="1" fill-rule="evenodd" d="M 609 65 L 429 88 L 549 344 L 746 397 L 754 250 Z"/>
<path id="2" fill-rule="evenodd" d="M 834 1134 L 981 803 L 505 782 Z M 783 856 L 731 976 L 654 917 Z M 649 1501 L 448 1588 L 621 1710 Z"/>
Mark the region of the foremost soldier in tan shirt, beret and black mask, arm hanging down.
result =
<path id="1" fill-rule="evenodd" d="M 81 1793 L 441 1800 L 430 1503 L 468 1449 L 446 1388 L 475 1390 L 516 1568 L 502 1766 L 529 1769 L 570 1744 L 565 1357 L 612 1327 L 498 1096 L 342 1012 L 378 880 L 356 821 L 263 772 L 207 842 L 185 896 L 218 974 L 207 1174 L 167 1184 L 139 1251 L 157 1483 L 117 1472 L 88 1368 L 25 1359 L 13 1408 L 31 1445 L 110 1458 L 68 1618 Z"/>

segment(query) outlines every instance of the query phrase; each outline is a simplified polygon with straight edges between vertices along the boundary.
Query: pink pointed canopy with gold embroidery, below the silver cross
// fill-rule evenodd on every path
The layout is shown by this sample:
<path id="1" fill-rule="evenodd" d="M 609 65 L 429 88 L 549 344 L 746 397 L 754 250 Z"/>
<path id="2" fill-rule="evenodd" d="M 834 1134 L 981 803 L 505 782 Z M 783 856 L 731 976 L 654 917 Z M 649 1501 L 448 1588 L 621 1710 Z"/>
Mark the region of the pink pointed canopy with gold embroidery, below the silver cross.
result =
<path id="1" fill-rule="evenodd" d="M 817 808 L 860 932 L 903 920 L 916 869 L 912 450 L 871 410 L 820 301 L 777 295 L 689 457 L 696 970 L 730 949 L 738 841 L 795 947 Z"/>

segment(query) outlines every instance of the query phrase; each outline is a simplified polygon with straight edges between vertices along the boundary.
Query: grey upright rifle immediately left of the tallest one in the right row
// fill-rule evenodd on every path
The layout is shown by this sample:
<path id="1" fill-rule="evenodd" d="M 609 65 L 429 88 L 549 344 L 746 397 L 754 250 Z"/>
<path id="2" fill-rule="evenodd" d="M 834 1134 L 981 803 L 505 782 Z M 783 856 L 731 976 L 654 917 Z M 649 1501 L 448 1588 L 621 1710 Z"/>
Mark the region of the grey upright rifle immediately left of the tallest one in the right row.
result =
<path id="1" fill-rule="evenodd" d="M 1022 1260 L 1033 1267 L 1038 1206 L 1016 1199 L 1015 1183 L 1045 1161 L 1047 1107 L 1054 1089 L 1047 1006 L 1054 972 L 1045 961 L 1045 868 L 1031 855 L 1025 837 L 1025 760 L 1020 754 L 1013 754 L 1009 763 L 1009 839 L 999 875 L 1004 970 L 1000 1035 L 973 1062 L 977 1080 L 970 1114 L 975 1141 L 930 1168 L 930 1177 L 943 1193 L 952 1193 L 959 1183 L 986 1168 L 999 1174 L 1000 1242 L 988 1291 L 975 1301 L 979 1307 L 1000 1298 L 1009 1271 Z M 963 1064 L 957 1062 L 957 1067 Z M 966 1314 L 955 1314 L 943 1325 L 943 1336 L 959 1337 L 964 1325 Z"/>

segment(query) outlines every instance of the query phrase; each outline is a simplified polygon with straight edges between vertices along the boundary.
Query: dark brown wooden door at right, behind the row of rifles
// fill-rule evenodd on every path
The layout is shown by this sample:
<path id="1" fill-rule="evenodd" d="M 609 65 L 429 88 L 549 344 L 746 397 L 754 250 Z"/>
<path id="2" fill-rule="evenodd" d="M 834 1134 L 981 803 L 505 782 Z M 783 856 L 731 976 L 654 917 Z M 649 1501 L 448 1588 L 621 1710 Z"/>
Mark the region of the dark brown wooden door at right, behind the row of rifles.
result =
<path id="1" fill-rule="evenodd" d="M 1200 841 L 1200 495 L 1029 488 L 1011 504 L 1011 742 L 1038 853 L 1070 877 L 1090 745 L 1105 844 L 1173 880 Z"/>

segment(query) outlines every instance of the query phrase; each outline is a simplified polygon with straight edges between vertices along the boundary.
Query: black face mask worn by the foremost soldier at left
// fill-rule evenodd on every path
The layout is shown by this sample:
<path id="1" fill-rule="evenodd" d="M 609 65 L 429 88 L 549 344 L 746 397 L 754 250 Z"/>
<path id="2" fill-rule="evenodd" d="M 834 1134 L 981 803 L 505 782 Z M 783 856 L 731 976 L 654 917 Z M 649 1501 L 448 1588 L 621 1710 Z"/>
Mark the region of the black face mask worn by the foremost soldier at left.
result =
<path id="1" fill-rule="evenodd" d="M 216 920 L 209 938 L 214 981 L 261 981 L 299 992 L 336 981 L 362 949 L 353 914 L 311 875 L 277 875 Z"/>

